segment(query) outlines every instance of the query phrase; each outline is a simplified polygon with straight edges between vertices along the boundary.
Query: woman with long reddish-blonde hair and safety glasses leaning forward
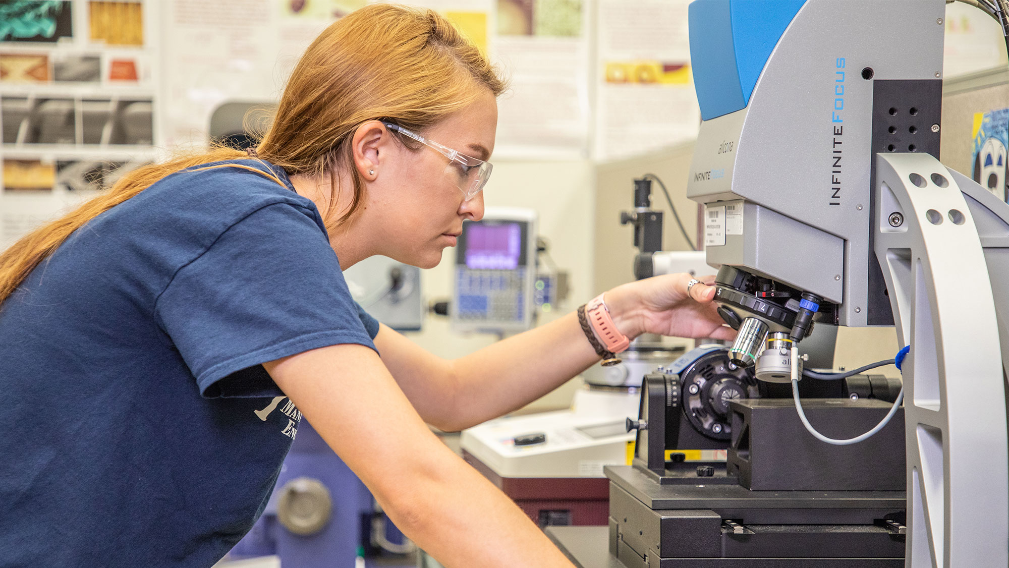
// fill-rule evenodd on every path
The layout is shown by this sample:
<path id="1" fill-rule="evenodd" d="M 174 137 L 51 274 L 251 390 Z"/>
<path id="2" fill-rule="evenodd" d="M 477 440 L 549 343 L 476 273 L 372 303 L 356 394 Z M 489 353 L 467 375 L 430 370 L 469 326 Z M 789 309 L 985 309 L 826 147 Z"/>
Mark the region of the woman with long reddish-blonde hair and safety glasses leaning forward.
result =
<path id="1" fill-rule="evenodd" d="M 137 169 L 4 252 L 0 564 L 210 566 L 304 413 L 446 566 L 570 566 L 425 422 L 517 409 L 625 336 L 731 332 L 686 275 L 452 361 L 356 306 L 342 269 L 434 266 L 480 219 L 502 89 L 436 13 L 372 5 L 308 48 L 253 150 Z"/>

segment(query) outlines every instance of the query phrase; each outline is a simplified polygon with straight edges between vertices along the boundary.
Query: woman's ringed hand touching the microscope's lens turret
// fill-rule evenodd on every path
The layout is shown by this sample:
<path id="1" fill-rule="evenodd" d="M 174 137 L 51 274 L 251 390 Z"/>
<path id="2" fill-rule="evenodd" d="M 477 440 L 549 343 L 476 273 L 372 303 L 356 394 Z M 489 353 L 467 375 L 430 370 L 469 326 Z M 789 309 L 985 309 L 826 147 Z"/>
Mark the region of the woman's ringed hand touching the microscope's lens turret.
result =
<path id="1" fill-rule="evenodd" d="M 613 324 L 628 337 L 658 333 L 676 337 L 733 339 L 736 331 L 715 312 L 714 276 L 664 274 L 619 286 L 604 300 Z"/>

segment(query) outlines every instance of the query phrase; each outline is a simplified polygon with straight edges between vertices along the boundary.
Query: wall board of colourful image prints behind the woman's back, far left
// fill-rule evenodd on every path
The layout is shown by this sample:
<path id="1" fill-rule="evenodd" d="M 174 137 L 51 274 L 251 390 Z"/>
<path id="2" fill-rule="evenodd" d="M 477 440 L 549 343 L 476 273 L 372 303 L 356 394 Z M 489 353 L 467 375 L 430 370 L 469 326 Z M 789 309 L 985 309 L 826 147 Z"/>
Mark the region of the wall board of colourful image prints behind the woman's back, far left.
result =
<path id="1" fill-rule="evenodd" d="M 0 3 L 0 248 L 155 159 L 144 0 Z"/>

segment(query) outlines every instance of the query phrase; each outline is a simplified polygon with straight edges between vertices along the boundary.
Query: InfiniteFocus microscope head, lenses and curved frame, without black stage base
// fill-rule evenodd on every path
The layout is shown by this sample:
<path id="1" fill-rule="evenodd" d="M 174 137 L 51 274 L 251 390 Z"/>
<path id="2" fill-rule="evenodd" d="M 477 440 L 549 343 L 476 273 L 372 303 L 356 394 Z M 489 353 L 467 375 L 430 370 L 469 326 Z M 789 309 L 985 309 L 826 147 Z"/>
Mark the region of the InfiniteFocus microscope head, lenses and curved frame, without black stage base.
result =
<path id="1" fill-rule="evenodd" d="M 733 362 L 789 380 L 782 350 L 813 321 L 896 325 L 907 565 L 1006 566 L 1009 206 L 937 159 L 943 17 L 937 0 L 694 2 L 687 194 Z"/>

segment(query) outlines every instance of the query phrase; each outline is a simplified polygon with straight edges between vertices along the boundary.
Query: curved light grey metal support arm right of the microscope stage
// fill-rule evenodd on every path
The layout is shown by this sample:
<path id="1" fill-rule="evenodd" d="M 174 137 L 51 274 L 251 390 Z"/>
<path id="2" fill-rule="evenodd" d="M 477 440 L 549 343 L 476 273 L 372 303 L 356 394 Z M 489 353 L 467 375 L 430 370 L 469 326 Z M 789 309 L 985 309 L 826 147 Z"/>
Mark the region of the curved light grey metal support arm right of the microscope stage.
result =
<path id="1" fill-rule="evenodd" d="M 978 229 L 957 180 L 934 157 L 876 159 L 875 252 L 898 337 L 911 346 L 907 566 L 1007 566 L 1002 354 Z"/>

